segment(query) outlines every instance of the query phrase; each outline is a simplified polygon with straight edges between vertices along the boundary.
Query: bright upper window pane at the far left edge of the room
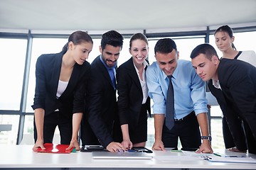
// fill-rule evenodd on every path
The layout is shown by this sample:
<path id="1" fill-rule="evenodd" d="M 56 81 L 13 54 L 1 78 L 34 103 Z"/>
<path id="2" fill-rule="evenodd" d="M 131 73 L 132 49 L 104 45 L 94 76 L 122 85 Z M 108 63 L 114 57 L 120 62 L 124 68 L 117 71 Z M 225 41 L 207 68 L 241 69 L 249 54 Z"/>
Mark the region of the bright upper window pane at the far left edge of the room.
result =
<path id="1" fill-rule="evenodd" d="M 27 40 L 0 38 L 0 110 L 19 111 Z"/>

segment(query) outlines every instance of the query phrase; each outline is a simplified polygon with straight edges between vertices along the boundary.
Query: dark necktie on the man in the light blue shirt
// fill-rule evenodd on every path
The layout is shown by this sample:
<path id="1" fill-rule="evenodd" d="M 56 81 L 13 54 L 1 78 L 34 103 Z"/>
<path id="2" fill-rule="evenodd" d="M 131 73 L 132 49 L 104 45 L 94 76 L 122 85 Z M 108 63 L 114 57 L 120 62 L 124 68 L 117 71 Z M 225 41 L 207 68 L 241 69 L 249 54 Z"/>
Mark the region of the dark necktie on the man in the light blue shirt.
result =
<path id="1" fill-rule="evenodd" d="M 166 97 L 166 127 L 171 130 L 174 127 L 174 86 L 169 76 L 169 87 Z"/>

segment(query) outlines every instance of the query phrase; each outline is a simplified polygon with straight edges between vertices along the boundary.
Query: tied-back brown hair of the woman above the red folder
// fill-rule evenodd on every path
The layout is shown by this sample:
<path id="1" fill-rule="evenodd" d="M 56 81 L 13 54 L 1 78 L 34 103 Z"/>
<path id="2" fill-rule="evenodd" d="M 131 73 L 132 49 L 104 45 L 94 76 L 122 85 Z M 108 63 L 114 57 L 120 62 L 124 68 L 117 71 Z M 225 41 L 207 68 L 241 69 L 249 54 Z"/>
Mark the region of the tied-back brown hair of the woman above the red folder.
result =
<path id="1" fill-rule="evenodd" d="M 91 42 L 93 44 L 92 38 L 85 31 L 77 30 L 70 34 L 68 42 L 73 42 L 74 45 L 80 45 L 82 42 Z M 63 47 L 63 52 L 68 50 L 68 42 Z"/>

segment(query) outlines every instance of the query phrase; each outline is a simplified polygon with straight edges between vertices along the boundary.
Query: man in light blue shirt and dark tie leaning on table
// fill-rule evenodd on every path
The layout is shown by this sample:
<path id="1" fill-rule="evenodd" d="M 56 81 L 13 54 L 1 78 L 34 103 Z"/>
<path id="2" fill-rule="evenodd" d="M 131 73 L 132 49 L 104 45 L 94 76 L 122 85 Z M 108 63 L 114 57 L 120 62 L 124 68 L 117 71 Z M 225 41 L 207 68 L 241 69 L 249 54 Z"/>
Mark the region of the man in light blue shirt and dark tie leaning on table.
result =
<path id="1" fill-rule="evenodd" d="M 152 149 L 177 148 L 179 137 L 183 148 L 199 148 L 196 152 L 213 153 L 208 132 L 205 83 L 191 62 L 178 60 L 176 43 L 171 38 L 156 42 L 154 52 L 156 62 L 146 69 L 149 97 L 154 101 L 155 142 Z M 166 118 L 169 116 L 166 113 L 169 79 L 174 86 L 174 118 Z M 173 128 L 169 127 L 171 120 L 174 121 Z"/>

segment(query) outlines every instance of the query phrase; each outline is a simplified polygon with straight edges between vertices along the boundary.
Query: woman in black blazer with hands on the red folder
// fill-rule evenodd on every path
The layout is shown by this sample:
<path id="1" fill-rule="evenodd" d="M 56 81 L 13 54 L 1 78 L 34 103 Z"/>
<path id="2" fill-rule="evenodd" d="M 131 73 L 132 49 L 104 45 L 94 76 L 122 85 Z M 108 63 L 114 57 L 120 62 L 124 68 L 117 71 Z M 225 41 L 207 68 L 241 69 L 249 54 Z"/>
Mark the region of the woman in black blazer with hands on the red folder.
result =
<path id="1" fill-rule="evenodd" d="M 36 91 L 33 102 L 33 150 L 45 149 L 52 143 L 55 128 L 60 130 L 60 143 L 79 150 L 78 131 L 85 108 L 85 87 L 90 76 L 90 64 L 85 60 L 92 51 L 92 38 L 75 31 L 63 51 L 38 57 Z"/>

